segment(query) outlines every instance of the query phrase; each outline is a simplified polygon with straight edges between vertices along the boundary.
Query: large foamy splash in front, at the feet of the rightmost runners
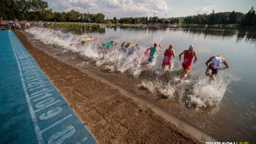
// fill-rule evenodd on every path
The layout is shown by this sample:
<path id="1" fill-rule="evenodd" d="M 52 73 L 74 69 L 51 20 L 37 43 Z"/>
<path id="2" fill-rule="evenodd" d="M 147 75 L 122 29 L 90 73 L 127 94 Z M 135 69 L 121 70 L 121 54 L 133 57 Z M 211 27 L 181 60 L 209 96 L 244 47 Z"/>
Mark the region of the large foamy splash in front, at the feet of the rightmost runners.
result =
<path id="1" fill-rule="evenodd" d="M 224 76 L 218 77 L 217 82 L 212 84 L 209 83 L 209 77 L 200 77 L 196 81 L 186 79 L 181 84 L 177 84 L 178 81 L 179 77 L 174 77 L 169 82 L 159 79 L 144 80 L 138 86 L 149 92 L 156 92 L 171 100 L 179 101 L 198 111 L 211 111 L 221 102 L 230 82 Z"/>

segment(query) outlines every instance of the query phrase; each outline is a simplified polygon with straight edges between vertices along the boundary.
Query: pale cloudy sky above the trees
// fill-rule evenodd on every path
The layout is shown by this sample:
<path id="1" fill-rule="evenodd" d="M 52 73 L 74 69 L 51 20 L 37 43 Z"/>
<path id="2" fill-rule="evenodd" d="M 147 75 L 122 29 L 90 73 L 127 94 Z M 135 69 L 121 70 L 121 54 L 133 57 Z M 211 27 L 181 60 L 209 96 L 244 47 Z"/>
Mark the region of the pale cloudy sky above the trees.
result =
<path id="1" fill-rule="evenodd" d="M 96 14 L 101 12 L 105 19 L 156 16 L 171 18 L 213 12 L 247 13 L 256 9 L 256 0 L 44 0 L 53 12 L 68 12 L 72 9 Z"/>

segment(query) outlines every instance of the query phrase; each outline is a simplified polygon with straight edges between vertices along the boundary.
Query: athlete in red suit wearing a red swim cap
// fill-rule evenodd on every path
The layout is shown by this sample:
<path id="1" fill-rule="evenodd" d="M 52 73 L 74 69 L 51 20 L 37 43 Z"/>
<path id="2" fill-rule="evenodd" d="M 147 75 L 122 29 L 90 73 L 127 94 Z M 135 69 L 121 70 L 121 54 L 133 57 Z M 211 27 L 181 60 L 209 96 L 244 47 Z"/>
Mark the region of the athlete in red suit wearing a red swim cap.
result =
<path id="1" fill-rule="evenodd" d="M 175 50 L 173 50 L 173 45 L 169 45 L 169 48 L 165 50 L 163 63 L 161 63 L 161 68 L 163 70 L 165 69 L 165 65 L 169 65 L 169 69 L 171 69 L 171 56 L 175 57 Z"/>

